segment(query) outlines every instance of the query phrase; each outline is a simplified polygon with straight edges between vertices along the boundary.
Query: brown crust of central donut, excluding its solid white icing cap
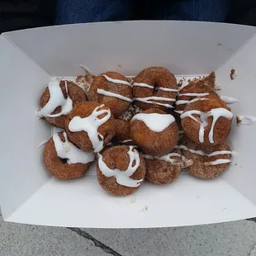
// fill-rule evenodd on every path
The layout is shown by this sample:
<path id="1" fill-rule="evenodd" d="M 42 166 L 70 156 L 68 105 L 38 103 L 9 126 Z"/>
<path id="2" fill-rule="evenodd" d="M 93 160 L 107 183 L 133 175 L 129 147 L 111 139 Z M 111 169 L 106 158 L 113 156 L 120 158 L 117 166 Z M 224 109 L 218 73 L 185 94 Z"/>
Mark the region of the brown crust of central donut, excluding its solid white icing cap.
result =
<path id="1" fill-rule="evenodd" d="M 165 114 L 157 108 L 151 108 L 144 113 Z M 173 122 L 170 126 L 161 132 L 150 130 L 143 121 L 134 120 L 130 123 L 130 135 L 136 145 L 149 155 L 164 155 L 168 154 L 178 141 L 178 126 Z"/>

